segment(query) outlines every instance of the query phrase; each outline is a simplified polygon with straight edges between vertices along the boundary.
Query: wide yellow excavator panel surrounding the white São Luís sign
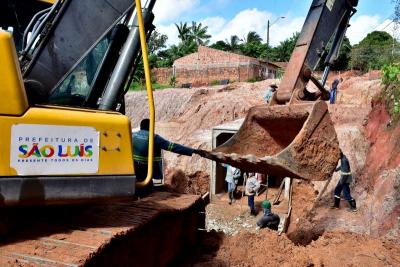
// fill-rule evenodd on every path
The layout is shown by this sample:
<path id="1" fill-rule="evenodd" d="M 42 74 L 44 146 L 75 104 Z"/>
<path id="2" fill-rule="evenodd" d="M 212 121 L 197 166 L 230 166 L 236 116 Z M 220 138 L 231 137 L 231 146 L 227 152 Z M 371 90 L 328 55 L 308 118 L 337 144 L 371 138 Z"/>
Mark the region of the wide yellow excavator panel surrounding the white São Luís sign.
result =
<path id="1" fill-rule="evenodd" d="M 0 176 L 16 176 L 17 171 L 11 167 L 11 155 L 7 153 L 12 151 L 12 143 L 15 138 L 21 138 L 23 141 L 27 138 L 28 143 L 33 141 L 38 142 L 38 150 L 42 151 L 43 146 L 46 146 L 46 141 L 50 142 L 50 138 L 60 136 L 59 143 L 62 145 L 61 137 L 68 138 L 66 133 L 60 132 L 59 135 L 49 133 L 48 136 L 35 136 L 29 132 L 23 136 L 12 136 L 12 128 L 24 125 L 27 129 L 39 129 L 40 127 L 54 128 L 53 132 L 66 129 L 68 127 L 76 128 L 80 131 L 82 127 L 93 128 L 94 132 L 98 133 L 98 170 L 95 173 L 85 172 L 66 172 L 66 175 L 133 175 L 133 158 L 132 158 L 132 143 L 131 143 L 131 127 L 129 119 L 119 113 L 88 111 L 83 109 L 60 108 L 52 106 L 29 108 L 28 111 L 20 117 L 4 116 L 0 117 Z M 59 128 L 58 126 L 61 126 Z M 41 139 L 39 140 L 39 138 Z M 48 139 L 46 139 L 46 137 Z M 42 144 L 40 142 L 43 142 Z M 56 140 L 52 140 L 56 142 Z M 56 142 L 57 143 L 57 142 Z M 77 140 L 77 146 L 80 145 L 80 140 Z M 32 147 L 25 147 L 24 150 L 29 152 Z M 57 145 L 54 147 L 57 150 Z M 66 153 L 66 147 L 63 147 L 63 153 Z M 74 154 L 75 147 L 71 148 L 70 154 Z M 78 148 L 79 149 L 79 148 Z M 50 149 L 47 148 L 44 153 L 33 153 L 33 160 L 45 159 L 49 155 Z M 6 152 L 6 153 L 4 153 Z M 57 151 L 55 151 L 57 153 Z M 19 152 L 19 155 L 22 155 Z M 84 156 L 83 156 L 84 157 Z M 79 157 L 78 157 L 79 158 Z M 70 170 L 68 170 L 70 171 Z M 58 173 L 62 174 L 62 173 Z M 35 173 L 26 173 L 25 175 L 35 175 Z M 51 175 L 51 174 L 50 174 Z"/>

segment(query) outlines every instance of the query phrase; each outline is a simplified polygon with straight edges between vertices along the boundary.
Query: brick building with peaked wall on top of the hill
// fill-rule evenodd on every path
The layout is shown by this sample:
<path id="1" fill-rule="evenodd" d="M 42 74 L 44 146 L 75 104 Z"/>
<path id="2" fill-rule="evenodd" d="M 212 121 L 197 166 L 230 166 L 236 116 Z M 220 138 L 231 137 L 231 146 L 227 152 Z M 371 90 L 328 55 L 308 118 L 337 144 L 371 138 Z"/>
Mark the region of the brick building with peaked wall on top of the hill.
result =
<path id="1" fill-rule="evenodd" d="M 175 76 L 178 85 L 210 85 L 223 80 L 249 81 L 275 78 L 279 67 L 265 61 L 235 53 L 199 46 L 198 52 L 175 60 L 171 70 L 155 69 L 157 82 Z"/>

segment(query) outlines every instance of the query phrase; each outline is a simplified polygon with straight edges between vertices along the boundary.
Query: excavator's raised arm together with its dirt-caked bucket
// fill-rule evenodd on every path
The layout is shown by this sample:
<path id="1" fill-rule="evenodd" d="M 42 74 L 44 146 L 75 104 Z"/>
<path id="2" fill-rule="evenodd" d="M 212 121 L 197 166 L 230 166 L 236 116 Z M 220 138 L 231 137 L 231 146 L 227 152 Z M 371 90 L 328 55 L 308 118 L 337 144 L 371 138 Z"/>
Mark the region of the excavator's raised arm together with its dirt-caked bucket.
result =
<path id="1" fill-rule="evenodd" d="M 357 4 L 313 0 L 271 102 L 251 108 L 239 131 L 208 158 L 274 177 L 326 180 L 332 175 L 339 142 L 325 103 L 325 83 Z M 313 76 L 319 64 L 325 67 L 321 80 Z M 309 81 L 318 91 L 307 88 Z"/>

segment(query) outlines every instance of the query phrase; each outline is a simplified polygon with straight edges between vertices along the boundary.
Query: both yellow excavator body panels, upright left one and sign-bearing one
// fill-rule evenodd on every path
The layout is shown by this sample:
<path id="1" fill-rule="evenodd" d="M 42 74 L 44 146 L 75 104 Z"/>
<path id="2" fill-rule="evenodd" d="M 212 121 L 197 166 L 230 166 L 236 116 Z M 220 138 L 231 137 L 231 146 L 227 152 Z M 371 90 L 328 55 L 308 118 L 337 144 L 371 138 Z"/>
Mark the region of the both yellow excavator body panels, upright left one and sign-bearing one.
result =
<path id="1" fill-rule="evenodd" d="M 40 106 L 30 107 L 28 105 L 25 88 L 21 78 L 21 72 L 19 70 L 19 64 L 15 47 L 12 41 L 12 36 L 8 32 L 0 31 L 0 176 L 16 176 L 16 175 L 36 175 L 37 171 L 30 173 L 29 171 L 23 171 L 18 173 L 11 165 L 11 157 L 13 155 L 12 143 L 15 146 L 15 138 L 23 138 L 21 142 L 27 141 L 26 147 L 18 147 L 22 149 L 15 154 L 19 160 L 51 160 L 49 153 L 57 154 L 57 140 L 53 140 L 53 147 L 48 147 L 50 142 L 49 138 L 61 138 L 68 139 L 68 133 L 65 130 L 72 133 L 79 132 L 80 130 L 90 130 L 97 137 L 95 150 L 98 154 L 92 155 L 96 160 L 96 171 L 85 170 L 83 172 L 74 172 L 71 169 L 67 169 L 67 175 L 133 175 L 133 159 L 132 159 L 132 145 L 131 145 L 131 127 L 128 117 L 117 113 L 117 112 L 104 112 L 98 110 L 87 110 L 80 108 L 68 108 L 58 106 Z M 19 134 L 19 137 L 13 138 L 13 127 L 15 127 L 15 134 Z M 75 128 L 74 128 L 75 127 Z M 83 128 L 82 128 L 83 127 Z M 43 131 L 41 131 L 43 128 Z M 44 129 L 46 128 L 46 129 Z M 25 129 L 25 130 L 24 130 Z M 75 131 L 76 129 L 76 131 Z M 21 135 L 21 131 L 26 131 Z M 33 133 L 29 133 L 33 131 Z M 46 131 L 50 131 L 46 138 Z M 40 134 L 38 134 L 40 133 Z M 36 135 L 36 136 L 35 136 Z M 40 136 L 38 136 L 40 135 Z M 38 139 L 42 137 L 42 139 Z M 74 134 L 71 138 L 74 137 Z M 36 138 L 36 139 L 32 139 Z M 79 138 L 78 138 L 79 139 Z M 80 150 L 82 140 L 76 140 L 77 148 L 75 148 L 73 142 L 68 143 L 70 148 L 67 146 L 62 147 L 65 151 L 65 158 L 68 158 L 67 149 L 70 156 L 88 160 L 87 153 L 84 151 L 85 148 Z M 32 142 L 32 140 L 34 142 Z M 68 141 L 68 140 L 67 140 Z M 33 151 L 32 145 L 37 144 L 39 151 Z M 72 144 L 72 145 L 71 145 Z M 62 145 L 62 143 L 60 143 Z M 43 146 L 45 148 L 44 154 L 40 152 Z M 52 149 L 55 150 L 52 152 Z M 75 149 L 77 149 L 75 151 Z M 14 148 L 15 150 L 15 148 Z M 23 158 L 23 152 L 26 155 L 32 150 L 32 155 L 27 158 Z M 80 151 L 79 151 L 80 150 Z M 15 151 L 14 151 L 15 152 Z M 76 152 L 76 153 L 75 153 Z M 86 154 L 85 154 L 86 153 Z M 93 153 L 93 151 L 91 151 Z M 86 156 L 86 157 L 85 157 Z M 70 157 L 72 159 L 72 157 Z M 29 162 L 28 162 L 29 163 Z M 27 164 L 28 164 L 27 163 Z M 39 164 L 39 163 L 38 163 Z M 45 165 L 44 165 L 45 166 Z M 64 168 L 73 167 L 73 165 Z M 81 169 L 83 169 L 82 166 Z M 46 174 L 46 172 L 43 172 Z M 43 174 L 39 173 L 39 174 Z M 48 175 L 52 175 L 51 171 L 47 172 Z M 64 175 L 62 170 L 56 170 L 58 175 Z"/>

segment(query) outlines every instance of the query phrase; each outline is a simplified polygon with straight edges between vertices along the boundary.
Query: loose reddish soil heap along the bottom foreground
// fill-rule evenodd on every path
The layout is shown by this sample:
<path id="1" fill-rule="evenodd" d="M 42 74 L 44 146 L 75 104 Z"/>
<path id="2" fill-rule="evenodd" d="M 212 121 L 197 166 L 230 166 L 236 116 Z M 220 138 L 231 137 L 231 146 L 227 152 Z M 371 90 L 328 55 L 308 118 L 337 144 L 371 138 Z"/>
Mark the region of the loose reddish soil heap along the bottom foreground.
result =
<path id="1" fill-rule="evenodd" d="M 366 235 L 330 232 L 307 246 L 296 246 L 286 236 L 263 230 L 223 237 L 206 233 L 198 251 L 180 266 L 398 266 L 396 241 Z"/>

